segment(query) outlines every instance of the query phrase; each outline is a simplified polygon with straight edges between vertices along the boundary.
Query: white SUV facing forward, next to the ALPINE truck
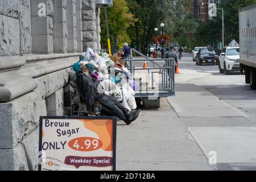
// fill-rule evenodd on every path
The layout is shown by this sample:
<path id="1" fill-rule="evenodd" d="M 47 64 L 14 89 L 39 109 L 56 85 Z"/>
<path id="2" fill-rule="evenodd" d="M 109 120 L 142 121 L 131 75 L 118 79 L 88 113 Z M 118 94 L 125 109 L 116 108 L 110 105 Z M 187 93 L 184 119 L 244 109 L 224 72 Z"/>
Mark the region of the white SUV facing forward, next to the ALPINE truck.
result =
<path id="1" fill-rule="evenodd" d="M 240 72 L 240 47 L 224 47 L 220 54 L 220 73 Z"/>

